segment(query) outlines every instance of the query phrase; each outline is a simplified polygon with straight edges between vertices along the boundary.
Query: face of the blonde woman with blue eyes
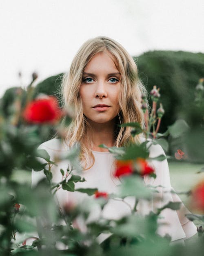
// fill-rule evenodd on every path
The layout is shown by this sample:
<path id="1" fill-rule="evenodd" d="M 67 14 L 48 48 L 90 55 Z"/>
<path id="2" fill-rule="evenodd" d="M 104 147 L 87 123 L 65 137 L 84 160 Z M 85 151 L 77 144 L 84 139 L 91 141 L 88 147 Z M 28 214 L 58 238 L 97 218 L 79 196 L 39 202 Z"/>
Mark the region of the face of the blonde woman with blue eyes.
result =
<path id="1" fill-rule="evenodd" d="M 95 54 L 84 69 L 80 86 L 84 115 L 95 123 L 108 123 L 120 110 L 121 74 L 110 56 L 109 52 Z"/>

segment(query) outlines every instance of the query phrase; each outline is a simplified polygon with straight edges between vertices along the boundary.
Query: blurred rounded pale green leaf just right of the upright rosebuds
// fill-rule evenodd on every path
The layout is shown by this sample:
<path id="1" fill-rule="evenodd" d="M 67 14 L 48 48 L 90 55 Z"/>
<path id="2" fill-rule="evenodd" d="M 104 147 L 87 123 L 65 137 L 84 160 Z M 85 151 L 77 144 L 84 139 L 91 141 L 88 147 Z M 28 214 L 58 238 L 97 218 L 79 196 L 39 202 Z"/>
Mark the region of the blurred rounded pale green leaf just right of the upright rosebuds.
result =
<path id="1" fill-rule="evenodd" d="M 189 126 L 185 120 L 177 120 L 173 125 L 168 126 L 169 134 L 173 138 L 178 138 L 189 130 Z"/>

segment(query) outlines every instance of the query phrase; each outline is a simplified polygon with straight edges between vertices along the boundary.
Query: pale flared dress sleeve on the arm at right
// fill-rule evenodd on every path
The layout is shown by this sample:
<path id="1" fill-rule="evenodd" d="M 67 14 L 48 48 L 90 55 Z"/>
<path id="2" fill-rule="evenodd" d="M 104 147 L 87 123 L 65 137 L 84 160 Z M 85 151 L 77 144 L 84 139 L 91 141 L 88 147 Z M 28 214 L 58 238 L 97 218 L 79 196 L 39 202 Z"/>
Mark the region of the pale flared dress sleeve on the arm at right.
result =
<path id="1" fill-rule="evenodd" d="M 161 154 L 165 155 L 164 150 L 160 145 L 151 145 L 151 158 L 159 156 Z M 173 190 L 173 188 L 170 182 L 169 165 L 167 160 L 153 160 L 150 164 L 153 165 L 157 177 L 155 179 L 153 179 L 152 177 L 144 177 L 144 182 L 153 186 L 159 186 L 157 187 L 159 193 L 156 193 L 157 199 L 153 200 L 153 211 L 155 211 L 156 208 L 161 208 L 169 202 L 181 202 L 181 207 L 179 210 L 175 211 L 169 208 L 165 208 L 160 213 L 160 226 L 157 229 L 157 233 L 160 236 L 165 236 L 165 234 L 169 234 L 171 236 L 171 241 L 179 239 L 185 240 L 187 238 L 190 238 L 191 236 L 195 235 L 195 233 L 197 233 L 197 229 L 193 222 L 185 217 L 185 214 L 190 212 L 184 206 L 180 197 L 178 197 L 177 194 L 170 192 L 171 190 Z"/>

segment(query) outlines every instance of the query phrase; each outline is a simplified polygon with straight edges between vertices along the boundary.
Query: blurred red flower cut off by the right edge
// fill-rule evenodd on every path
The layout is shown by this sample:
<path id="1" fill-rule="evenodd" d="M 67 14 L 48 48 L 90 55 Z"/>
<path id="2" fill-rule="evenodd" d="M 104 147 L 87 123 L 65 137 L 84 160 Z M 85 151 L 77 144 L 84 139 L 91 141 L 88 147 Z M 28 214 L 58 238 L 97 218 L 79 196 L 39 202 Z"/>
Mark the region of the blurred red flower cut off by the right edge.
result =
<path id="1" fill-rule="evenodd" d="M 191 207 L 204 214 L 204 181 L 197 184 L 191 192 Z"/>

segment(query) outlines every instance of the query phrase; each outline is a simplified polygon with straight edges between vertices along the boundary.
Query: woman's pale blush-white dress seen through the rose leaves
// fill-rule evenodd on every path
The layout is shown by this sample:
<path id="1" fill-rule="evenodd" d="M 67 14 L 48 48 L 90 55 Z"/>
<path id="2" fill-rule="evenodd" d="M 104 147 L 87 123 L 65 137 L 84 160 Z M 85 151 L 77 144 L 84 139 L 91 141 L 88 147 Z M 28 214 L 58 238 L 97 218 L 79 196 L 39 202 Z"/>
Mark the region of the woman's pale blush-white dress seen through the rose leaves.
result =
<path id="1" fill-rule="evenodd" d="M 42 145 L 40 145 L 39 149 L 46 150 L 51 156 L 51 160 L 54 160 L 55 156 L 58 156 L 60 154 L 66 154 L 67 152 L 69 152 L 69 148 L 67 147 L 67 145 L 65 143 L 62 143 L 60 139 L 56 138 L 43 143 Z M 149 157 L 156 157 L 160 154 L 165 154 L 162 147 L 160 145 L 151 145 Z M 120 184 L 120 181 L 114 178 L 112 175 L 114 168 L 113 154 L 111 154 L 110 152 L 93 151 L 93 155 L 95 157 L 95 163 L 92 168 L 86 171 L 82 171 L 82 174 L 80 174 L 86 179 L 86 181 L 83 183 L 76 183 L 75 188 L 98 188 L 98 191 L 106 192 L 108 194 L 116 193 L 118 189 L 117 185 Z M 69 161 L 61 161 L 58 162 L 57 167 L 53 166 L 53 182 L 62 181 L 62 174 L 60 173 L 60 168 L 65 171 L 67 170 L 68 165 Z M 153 186 L 161 185 L 164 188 L 157 188 L 157 190 L 160 191 L 159 202 L 155 203 L 142 200 L 139 201 L 139 203 L 137 204 L 137 212 L 141 213 L 142 215 L 148 214 L 149 211 L 153 211 L 155 208 L 160 208 L 164 206 L 169 201 L 181 202 L 180 198 L 176 194 L 164 193 L 164 191 L 170 191 L 173 189 L 170 183 L 169 166 L 167 160 L 153 160 L 151 161 L 151 165 L 153 165 L 157 177 L 153 179 L 152 177 L 146 176 L 144 177 L 144 183 Z M 35 184 L 37 184 L 37 182 L 43 177 L 43 171 L 32 171 L 32 186 L 35 186 Z M 56 193 L 56 197 L 58 199 L 60 207 L 63 207 L 63 205 L 67 202 L 78 204 L 88 196 L 78 191 L 69 192 L 67 190 L 59 189 Z M 133 208 L 134 200 L 132 197 L 127 197 L 126 202 L 131 205 L 131 208 Z M 109 199 L 109 202 L 103 209 L 102 216 L 107 219 L 119 219 L 124 215 L 128 215 L 131 213 L 131 209 L 128 204 L 125 204 L 121 201 L 116 201 L 114 199 Z M 171 242 L 176 240 L 183 241 L 195 235 L 195 233 L 197 233 L 196 227 L 193 222 L 185 217 L 186 213 L 190 212 L 184 206 L 184 204 L 182 204 L 180 210 L 177 211 L 171 210 L 169 208 L 164 209 L 160 213 L 160 215 L 164 217 L 163 219 L 160 219 L 160 222 L 166 222 L 167 224 L 160 225 L 160 227 L 157 229 L 157 233 L 160 236 L 165 236 L 165 234 L 169 234 L 171 236 Z M 94 211 L 94 213 L 90 216 L 90 220 L 97 220 L 99 214 L 100 213 L 97 213 L 97 211 Z M 80 227 L 80 225 L 81 224 L 78 223 L 78 227 Z M 80 228 L 83 229 L 83 225 L 81 225 Z M 106 237 L 102 237 L 100 241 L 104 240 L 104 238 Z"/>

